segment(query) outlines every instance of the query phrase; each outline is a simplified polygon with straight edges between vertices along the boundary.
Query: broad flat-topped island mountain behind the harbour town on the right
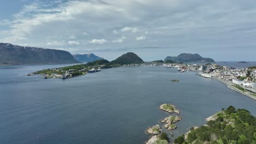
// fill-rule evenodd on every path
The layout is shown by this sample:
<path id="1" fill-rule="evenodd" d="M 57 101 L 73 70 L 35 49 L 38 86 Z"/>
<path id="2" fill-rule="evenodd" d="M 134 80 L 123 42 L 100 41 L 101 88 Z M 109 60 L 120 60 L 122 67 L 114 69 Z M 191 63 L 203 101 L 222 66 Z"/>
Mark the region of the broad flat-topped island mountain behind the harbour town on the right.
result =
<path id="1" fill-rule="evenodd" d="M 191 53 L 181 53 L 177 57 L 167 56 L 164 61 L 171 60 L 175 62 L 207 62 L 213 63 L 214 60 L 212 58 L 203 58 L 199 54 L 191 54 Z"/>

